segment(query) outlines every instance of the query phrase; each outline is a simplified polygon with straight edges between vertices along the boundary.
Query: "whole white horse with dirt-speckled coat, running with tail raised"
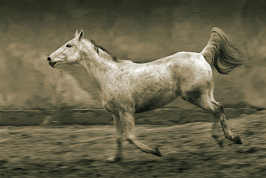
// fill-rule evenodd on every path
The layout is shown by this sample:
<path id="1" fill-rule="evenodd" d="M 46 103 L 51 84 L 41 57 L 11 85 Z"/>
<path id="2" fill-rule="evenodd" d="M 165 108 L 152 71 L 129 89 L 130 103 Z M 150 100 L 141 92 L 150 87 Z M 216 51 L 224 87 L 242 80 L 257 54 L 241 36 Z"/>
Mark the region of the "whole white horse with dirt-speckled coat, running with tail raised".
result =
<path id="1" fill-rule="evenodd" d="M 207 46 L 200 53 L 178 52 L 144 64 L 117 59 L 83 36 L 83 30 L 80 33 L 76 30 L 74 39 L 49 55 L 47 60 L 53 68 L 62 64 L 81 65 L 98 90 L 103 107 L 113 114 L 118 152 L 110 161 L 122 158 L 124 131 L 131 144 L 145 153 L 161 156 L 157 147 L 149 147 L 136 139 L 133 115 L 160 108 L 179 95 L 213 114 L 213 137 L 218 143 L 222 143 L 218 134 L 220 123 L 227 139 L 242 144 L 238 135 L 228 128 L 223 106 L 213 99 L 212 67 L 227 74 L 243 63 L 242 59 L 233 56 L 238 49 L 223 31 L 213 28 Z M 211 65 L 205 57 L 211 58 Z"/>

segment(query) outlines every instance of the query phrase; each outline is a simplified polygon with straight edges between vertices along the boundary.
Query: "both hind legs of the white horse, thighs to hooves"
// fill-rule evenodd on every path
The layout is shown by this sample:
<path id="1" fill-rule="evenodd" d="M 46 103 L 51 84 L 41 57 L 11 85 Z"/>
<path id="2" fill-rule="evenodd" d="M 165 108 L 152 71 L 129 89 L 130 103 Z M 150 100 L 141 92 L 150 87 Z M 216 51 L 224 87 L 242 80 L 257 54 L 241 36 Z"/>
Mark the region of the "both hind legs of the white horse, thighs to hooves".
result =
<path id="1" fill-rule="evenodd" d="M 182 99 L 212 113 L 213 115 L 213 137 L 217 142 L 222 145 L 222 139 L 219 137 L 218 128 L 219 123 L 222 126 L 225 138 L 235 143 L 242 144 L 242 141 L 238 135 L 233 134 L 229 129 L 223 106 L 213 99 L 213 88 L 201 88 L 195 91 L 186 92 L 181 94 Z"/>

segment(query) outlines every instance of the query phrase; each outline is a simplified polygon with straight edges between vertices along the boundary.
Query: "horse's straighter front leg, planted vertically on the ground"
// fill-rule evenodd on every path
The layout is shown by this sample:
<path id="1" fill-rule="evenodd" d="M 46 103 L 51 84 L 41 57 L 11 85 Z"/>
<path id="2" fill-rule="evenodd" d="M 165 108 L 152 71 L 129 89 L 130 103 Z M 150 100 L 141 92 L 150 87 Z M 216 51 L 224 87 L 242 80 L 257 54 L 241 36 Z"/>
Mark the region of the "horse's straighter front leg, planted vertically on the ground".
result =
<path id="1" fill-rule="evenodd" d="M 122 143 L 124 141 L 124 129 L 120 117 L 119 115 L 113 114 L 113 118 L 116 127 L 118 150 L 115 157 L 108 158 L 108 161 L 110 162 L 120 161 L 120 159 L 122 158 Z"/>

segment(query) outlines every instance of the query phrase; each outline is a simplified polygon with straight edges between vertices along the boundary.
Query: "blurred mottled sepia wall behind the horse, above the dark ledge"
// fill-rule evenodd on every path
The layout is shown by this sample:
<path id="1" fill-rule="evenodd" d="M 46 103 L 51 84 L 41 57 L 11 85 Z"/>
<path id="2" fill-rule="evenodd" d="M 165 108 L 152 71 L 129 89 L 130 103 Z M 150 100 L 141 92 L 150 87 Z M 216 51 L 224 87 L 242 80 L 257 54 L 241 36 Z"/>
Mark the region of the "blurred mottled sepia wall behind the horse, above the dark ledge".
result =
<path id="1" fill-rule="evenodd" d="M 266 108 L 265 9 L 264 0 L 2 0 L 0 109 L 103 108 L 83 68 L 46 60 L 76 29 L 120 59 L 148 62 L 202 51 L 215 26 L 246 58 L 229 75 L 214 70 L 215 99 Z M 178 98 L 166 107 L 196 106 Z"/>

